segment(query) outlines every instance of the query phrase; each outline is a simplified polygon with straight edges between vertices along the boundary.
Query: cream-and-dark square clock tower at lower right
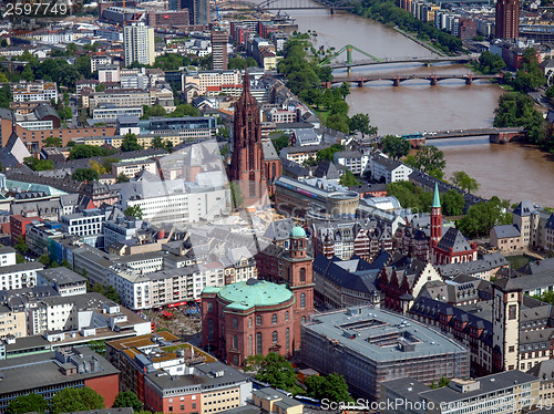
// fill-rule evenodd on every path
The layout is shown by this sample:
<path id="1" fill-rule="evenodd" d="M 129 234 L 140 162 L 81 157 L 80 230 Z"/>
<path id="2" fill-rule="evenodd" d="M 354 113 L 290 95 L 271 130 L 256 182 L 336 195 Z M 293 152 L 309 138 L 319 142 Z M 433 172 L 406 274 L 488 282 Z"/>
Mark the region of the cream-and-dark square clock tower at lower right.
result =
<path id="1" fill-rule="evenodd" d="M 522 288 L 510 278 L 496 280 L 492 288 L 492 371 L 517 370 Z"/>

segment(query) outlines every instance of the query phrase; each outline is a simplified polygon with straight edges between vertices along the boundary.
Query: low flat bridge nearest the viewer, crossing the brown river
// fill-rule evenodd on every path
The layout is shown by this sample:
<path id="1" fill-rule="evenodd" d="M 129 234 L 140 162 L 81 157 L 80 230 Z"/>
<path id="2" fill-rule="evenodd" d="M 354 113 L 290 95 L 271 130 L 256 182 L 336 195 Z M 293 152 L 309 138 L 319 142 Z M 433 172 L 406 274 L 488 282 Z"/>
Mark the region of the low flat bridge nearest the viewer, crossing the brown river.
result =
<path id="1" fill-rule="evenodd" d="M 514 138 L 525 136 L 525 128 L 522 127 L 488 127 L 488 128 L 469 128 L 469 130 L 450 130 L 425 132 L 411 135 L 402 135 L 404 139 L 410 141 L 410 144 L 416 148 L 419 145 L 424 145 L 430 139 L 448 139 L 448 138 L 464 138 L 469 136 L 489 136 L 491 143 L 507 144 Z"/>

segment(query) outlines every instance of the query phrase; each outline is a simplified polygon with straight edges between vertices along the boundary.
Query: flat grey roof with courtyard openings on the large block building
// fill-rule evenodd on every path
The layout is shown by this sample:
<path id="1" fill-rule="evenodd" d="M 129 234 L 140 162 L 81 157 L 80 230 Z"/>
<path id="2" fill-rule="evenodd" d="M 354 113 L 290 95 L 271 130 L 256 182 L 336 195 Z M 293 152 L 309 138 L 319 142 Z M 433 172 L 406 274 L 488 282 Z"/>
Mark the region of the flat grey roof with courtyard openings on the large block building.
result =
<path id="1" fill-rule="evenodd" d="M 318 314 L 305 329 L 378 362 L 469 353 L 422 323 L 372 307 Z"/>

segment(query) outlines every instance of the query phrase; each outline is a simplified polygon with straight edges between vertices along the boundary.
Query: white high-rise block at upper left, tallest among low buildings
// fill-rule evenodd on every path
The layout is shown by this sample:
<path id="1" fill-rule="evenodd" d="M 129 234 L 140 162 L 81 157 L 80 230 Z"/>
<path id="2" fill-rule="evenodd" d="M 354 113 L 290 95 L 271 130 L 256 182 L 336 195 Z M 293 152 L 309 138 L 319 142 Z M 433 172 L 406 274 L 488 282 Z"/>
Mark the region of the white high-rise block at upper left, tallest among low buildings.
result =
<path id="1" fill-rule="evenodd" d="M 154 64 L 154 29 L 144 23 L 132 23 L 123 31 L 125 66 L 133 62 Z"/>

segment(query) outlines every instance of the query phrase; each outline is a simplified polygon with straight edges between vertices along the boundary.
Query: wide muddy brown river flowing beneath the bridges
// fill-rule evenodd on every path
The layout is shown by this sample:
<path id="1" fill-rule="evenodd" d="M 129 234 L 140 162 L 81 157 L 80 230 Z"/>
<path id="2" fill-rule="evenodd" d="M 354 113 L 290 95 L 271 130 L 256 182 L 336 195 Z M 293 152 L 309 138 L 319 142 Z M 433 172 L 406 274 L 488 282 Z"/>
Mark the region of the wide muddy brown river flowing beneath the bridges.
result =
<path id="1" fill-rule="evenodd" d="M 286 0 L 285 0 L 286 1 Z M 310 3 L 311 0 L 305 0 Z M 327 10 L 289 10 L 298 30 L 317 32 L 317 45 L 339 50 L 352 44 L 378 58 L 431 56 L 428 49 L 392 29 L 350 13 Z M 346 60 L 346 56 L 340 58 Z M 352 52 L 353 60 L 367 59 Z M 459 64 L 430 68 L 417 63 L 355 68 L 352 74 L 375 73 L 448 73 L 465 74 Z M 346 75 L 346 70 L 336 71 Z M 423 131 L 461 130 L 491 126 L 494 108 L 503 90 L 488 82 L 465 85 L 461 80 L 445 80 L 431 86 L 427 81 L 407 81 L 401 86 L 390 82 L 372 82 L 365 87 L 352 86 L 347 101 L 350 112 L 367 113 L 380 134 L 403 134 Z M 483 138 L 434 141 L 444 152 L 447 178 L 464 170 L 481 184 L 483 197 L 497 195 L 512 203 L 531 199 L 554 206 L 554 162 L 547 154 L 521 144 L 490 144 Z"/>

